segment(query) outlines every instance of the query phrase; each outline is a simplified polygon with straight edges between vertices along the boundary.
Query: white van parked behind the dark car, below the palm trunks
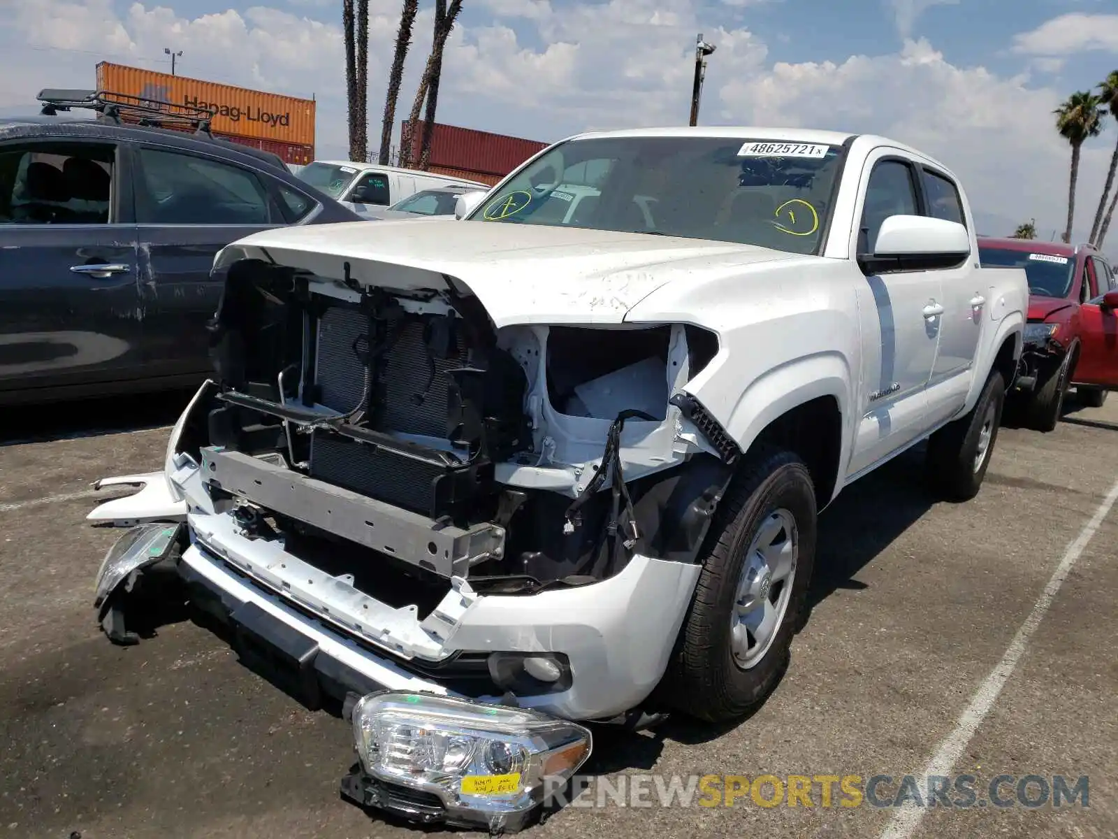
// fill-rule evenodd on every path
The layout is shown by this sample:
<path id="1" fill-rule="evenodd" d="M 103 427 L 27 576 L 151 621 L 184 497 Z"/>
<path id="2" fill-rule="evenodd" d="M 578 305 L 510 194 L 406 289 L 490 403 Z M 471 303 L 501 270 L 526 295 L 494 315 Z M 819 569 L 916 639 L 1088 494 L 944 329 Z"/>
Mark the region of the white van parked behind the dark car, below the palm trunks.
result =
<path id="1" fill-rule="evenodd" d="M 391 206 L 423 189 L 453 186 L 487 191 L 490 188 L 487 183 L 465 178 L 349 160 L 315 160 L 296 177 L 367 218 L 380 217 L 372 208 Z"/>

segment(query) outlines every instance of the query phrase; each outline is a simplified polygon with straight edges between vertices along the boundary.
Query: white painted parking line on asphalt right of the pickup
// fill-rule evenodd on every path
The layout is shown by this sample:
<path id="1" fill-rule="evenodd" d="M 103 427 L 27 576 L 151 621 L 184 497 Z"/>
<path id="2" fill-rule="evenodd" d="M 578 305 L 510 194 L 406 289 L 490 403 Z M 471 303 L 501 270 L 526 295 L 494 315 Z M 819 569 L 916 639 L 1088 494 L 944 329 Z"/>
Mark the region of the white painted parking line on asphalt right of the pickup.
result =
<path id="1" fill-rule="evenodd" d="M 1090 543 L 1091 537 L 1102 526 L 1116 500 L 1118 500 L 1118 482 L 1110 488 L 1110 492 L 1107 493 L 1102 503 L 1099 505 L 1095 515 L 1091 516 L 1090 521 L 1083 525 L 1083 529 L 1079 531 L 1079 536 L 1068 546 L 1063 558 L 1055 571 L 1052 572 L 1052 577 L 1049 579 L 1048 585 L 1044 586 L 1041 596 L 1036 600 L 1033 611 L 1029 613 L 1025 622 L 1021 624 L 1021 629 L 1013 637 L 1013 641 L 1010 642 L 1010 647 L 1006 649 L 1005 654 L 1002 656 L 1002 660 L 997 662 L 997 666 L 989 672 L 989 676 L 978 686 L 974 696 L 970 697 L 970 704 L 967 705 L 966 710 L 963 711 L 963 715 L 955 724 L 955 728 L 939 744 L 939 750 L 927 767 L 925 767 L 923 775 L 918 776 L 917 783 L 920 784 L 919 789 L 927 789 L 927 779 L 929 775 L 947 775 L 958 762 L 963 750 L 967 747 L 967 744 L 977 733 L 978 726 L 982 725 L 983 719 L 986 718 L 991 708 L 994 707 L 998 694 L 1002 692 L 1005 682 L 1013 675 L 1017 662 L 1025 654 L 1029 639 L 1032 638 L 1033 632 L 1036 631 L 1041 620 L 1043 620 L 1044 613 L 1048 612 L 1052 605 L 1052 601 L 1055 600 L 1057 592 L 1060 591 L 1063 581 L 1068 578 L 1076 562 L 1082 555 L 1088 543 Z M 916 832 L 917 828 L 920 827 L 926 808 L 917 807 L 912 802 L 906 802 L 906 807 L 897 810 L 893 818 L 885 824 L 880 839 L 909 839 Z"/>

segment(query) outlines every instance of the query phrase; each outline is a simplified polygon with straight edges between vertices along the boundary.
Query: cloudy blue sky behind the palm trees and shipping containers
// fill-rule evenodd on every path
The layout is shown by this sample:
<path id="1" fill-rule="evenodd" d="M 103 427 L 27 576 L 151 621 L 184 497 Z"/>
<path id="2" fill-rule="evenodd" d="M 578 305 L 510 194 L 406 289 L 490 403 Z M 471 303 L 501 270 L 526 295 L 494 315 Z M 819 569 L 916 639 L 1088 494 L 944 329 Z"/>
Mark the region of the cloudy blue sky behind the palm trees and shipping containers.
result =
<path id="1" fill-rule="evenodd" d="M 117 13 L 111 0 L 21 4 L 13 26 L 0 31 L 0 109 L 30 105 L 40 87 L 92 86 L 100 58 L 167 69 L 163 47 L 174 45 L 183 50 L 184 75 L 292 95 L 314 93 L 319 154 L 343 155 L 340 15 L 335 4 L 316 9 L 315 1 L 195 17 L 140 2 Z M 925 149 L 958 172 L 984 232 L 1010 233 L 1029 217 L 1036 218 L 1045 238 L 1062 229 L 1069 152 L 1051 112 L 1065 92 L 1029 75 L 953 65 L 928 40 L 911 38 L 893 54 L 774 64 L 756 35 L 719 26 L 717 13 L 709 7 L 700 12 L 693 0 L 484 1 L 492 19 L 456 27 L 448 43 L 439 96 L 444 122 L 543 141 L 588 129 L 682 124 L 690 110 L 694 36 L 702 31 L 718 47 L 708 69 L 702 123 L 883 133 Z M 915 15 L 927 4 L 911 0 L 908 8 Z M 373 148 L 399 6 L 399 0 L 370 2 Z M 476 20 L 479 7 L 473 8 Z M 424 8 L 394 139 L 410 110 L 430 23 Z M 1084 148 L 1080 236 L 1093 217 L 1112 142 L 1108 136 Z"/>

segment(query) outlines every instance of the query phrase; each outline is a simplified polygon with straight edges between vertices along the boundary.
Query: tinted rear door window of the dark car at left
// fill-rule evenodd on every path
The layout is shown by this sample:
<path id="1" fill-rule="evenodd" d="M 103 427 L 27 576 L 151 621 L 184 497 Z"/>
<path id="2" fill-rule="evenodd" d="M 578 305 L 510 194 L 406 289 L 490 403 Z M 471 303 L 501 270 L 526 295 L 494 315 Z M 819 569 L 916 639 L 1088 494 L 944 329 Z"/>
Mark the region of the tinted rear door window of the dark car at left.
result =
<path id="1" fill-rule="evenodd" d="M 136 180 L 140 224 L 267 225 L 278 223 L 257 177 L 192 154 L 141 149 Z"/>

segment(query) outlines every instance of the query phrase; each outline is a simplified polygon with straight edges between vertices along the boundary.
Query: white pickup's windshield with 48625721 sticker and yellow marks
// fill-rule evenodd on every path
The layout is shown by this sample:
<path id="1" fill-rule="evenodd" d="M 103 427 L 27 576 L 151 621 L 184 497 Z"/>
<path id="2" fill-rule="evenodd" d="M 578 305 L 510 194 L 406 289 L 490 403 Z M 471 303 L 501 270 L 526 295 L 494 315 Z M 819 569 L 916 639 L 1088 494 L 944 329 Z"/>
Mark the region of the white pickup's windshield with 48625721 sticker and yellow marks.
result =
<path id="1" fill-rule="evenodd" d="M 471 218 L 817 253 L 842 155 L 837 145 L 742 138 L 570 140 Z"/>

